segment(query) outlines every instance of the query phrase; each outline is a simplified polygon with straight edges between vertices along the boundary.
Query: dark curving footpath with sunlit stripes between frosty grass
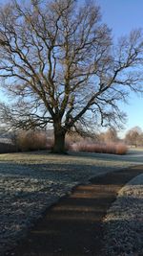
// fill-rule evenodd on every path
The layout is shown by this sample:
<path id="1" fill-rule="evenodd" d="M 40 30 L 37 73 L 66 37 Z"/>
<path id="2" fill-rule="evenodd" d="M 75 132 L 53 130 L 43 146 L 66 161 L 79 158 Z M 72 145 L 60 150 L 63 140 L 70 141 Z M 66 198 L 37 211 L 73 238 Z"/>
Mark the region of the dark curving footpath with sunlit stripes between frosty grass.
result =
<path id="1" fill-rule="evenodd" d="M 15 256 L 102 256 L 103 224 L 118 191 L 143 173 L 143 166 L 92 178 L 45 213 L 11 254 Z"/>

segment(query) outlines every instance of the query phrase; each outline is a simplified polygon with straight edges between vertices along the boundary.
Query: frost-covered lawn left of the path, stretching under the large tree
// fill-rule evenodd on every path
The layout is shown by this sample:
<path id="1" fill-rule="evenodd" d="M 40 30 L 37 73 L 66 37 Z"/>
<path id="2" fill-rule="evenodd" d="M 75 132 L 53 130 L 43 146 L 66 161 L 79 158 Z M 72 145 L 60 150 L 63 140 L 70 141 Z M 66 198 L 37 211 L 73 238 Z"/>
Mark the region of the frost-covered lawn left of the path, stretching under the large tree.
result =
<path id="1" fill-rule="evenodd" d="M 127 155 L 46 151 L 0 155 L 0 252 L 25 235 L 32 222 L 73 186 L 92 176 L 143 164 L 143 151 Z"/>

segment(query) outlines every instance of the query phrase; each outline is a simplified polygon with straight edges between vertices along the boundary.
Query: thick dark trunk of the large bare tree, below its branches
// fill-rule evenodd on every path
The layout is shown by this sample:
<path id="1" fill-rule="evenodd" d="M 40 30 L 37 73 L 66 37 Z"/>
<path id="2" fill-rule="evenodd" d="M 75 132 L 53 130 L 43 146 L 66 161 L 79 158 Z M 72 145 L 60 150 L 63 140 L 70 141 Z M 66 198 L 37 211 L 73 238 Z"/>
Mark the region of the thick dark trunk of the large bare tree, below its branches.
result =
<path id="1" fill-rule="evenodd" d="M 63 128 L 54 126 L 54 145 L 52 148 L 52 152 L 66 153 L 65 135 L 66 135 L 66 131 Z"/>

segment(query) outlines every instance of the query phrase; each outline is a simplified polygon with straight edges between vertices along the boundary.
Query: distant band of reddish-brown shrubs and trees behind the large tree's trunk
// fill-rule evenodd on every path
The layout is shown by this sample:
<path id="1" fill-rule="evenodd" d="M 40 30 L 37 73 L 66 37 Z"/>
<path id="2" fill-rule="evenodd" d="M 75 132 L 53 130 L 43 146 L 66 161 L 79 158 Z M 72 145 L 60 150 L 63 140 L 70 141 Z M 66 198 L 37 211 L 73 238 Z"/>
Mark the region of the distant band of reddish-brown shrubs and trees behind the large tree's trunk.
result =
<path id="1" fill-rule="evenodd" d="M 4 132 L 0 129 L 0 153 L 11 151 L 39 151 L 51 150 L 54 144 L 53 129 L 48 130 L 22 130 Z M 124 138 L 120 138 L 115 128 L 108 128 L 102 132 L 72 132 L 66 137 L 66 148 L 72 150 L 72 145 L 80 147 L 84 145 L 124 144 L 129 147 L 143 147 L 143 131 L 139 127 L 129 129 Z M 91 146 L 90 146 L 91 147 Z"/>

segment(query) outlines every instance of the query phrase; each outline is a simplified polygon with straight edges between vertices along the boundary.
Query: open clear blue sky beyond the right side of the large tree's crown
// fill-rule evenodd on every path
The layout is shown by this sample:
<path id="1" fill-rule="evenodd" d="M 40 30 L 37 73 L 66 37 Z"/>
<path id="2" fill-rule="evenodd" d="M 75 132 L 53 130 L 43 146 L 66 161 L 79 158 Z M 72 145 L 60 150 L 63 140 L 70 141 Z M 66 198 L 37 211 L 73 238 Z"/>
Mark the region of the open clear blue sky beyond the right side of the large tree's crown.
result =
<path id="1" fill-rule="evenodd" d="M 143 28 L 143 0 L 96 0 L 95 3 L 101 7 L 102 20 L 112 29 L 114 40 L 133 29 Z M 124 132 L 135 126 L 143 129 L 143 98 L 131 94 L 129 105 L 121 107 L 128 115 Z"/>

